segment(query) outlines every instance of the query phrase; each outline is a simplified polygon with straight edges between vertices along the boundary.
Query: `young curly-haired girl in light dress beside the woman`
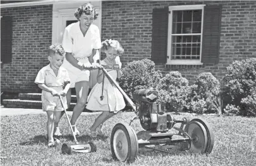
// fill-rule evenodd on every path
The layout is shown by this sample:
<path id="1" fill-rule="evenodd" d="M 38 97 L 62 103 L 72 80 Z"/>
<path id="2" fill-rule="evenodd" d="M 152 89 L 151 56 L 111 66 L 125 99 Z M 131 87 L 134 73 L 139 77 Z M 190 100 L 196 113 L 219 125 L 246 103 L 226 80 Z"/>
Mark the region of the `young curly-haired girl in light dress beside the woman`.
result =
<path id="1" fill-rule="evenodd" d="M 116 78 L 120 78 L 121 74 L 121 62 L 118 55 L 122 55 L 124 50 L 116 40 L 105 40 L 102 42 L 102 52 L 106 53 L 106 58 L 100 62 L 101 65 L 106 66 L 106 70 L 113 77 L 114 80 Z M 113 69 L 113 67 L 115 67 Z M 102 96 L 102 81 L 104 79 L 103 86 L 103 99 Z M 96 137 L 96 128 L 99 126 L 99 133 L 102 133 L 103 123 L 114 116 L 114 114 L 118 113 L 121 109 L 125 108 L 125 100 L 123 99 L 123 95 L 119 90 L 109 82 L 107 77 L 104 77 L 104 73 L 101 69 L 99 69 L 97 75 L 97 84 L 92 88 L 88 96 L 87 109 L 92 111 L 102 111 L 94 121 L 94 124 L 86 130 L 86 134 L 90 135 L 92 138 Z"/>

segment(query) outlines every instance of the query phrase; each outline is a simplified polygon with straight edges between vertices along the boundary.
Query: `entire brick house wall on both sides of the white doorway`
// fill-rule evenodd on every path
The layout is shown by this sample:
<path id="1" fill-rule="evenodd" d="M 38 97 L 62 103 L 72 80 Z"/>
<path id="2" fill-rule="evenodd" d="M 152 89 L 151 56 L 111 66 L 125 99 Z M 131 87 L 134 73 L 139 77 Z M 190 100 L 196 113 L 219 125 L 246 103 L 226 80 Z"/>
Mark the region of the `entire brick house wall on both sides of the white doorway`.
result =
<path id="1" fill-rule="evenodd" d="M 151 57 L 152 9 L 191 4 L 222 4 L 221 42 L 217 65 L 164 65 L 156 69 L 178 70 L 193 82 L 201 72 L 221 79 L 234 60 L 256 57 L 256 1 L 102 1 L 102 40 L 119 40 L 125 48 L 123 66 Z M 1 8 L 1 16 L 13 16 L 13 59 L 1 65 L 1 91 L 40 92 L 34 84 L 37 72 L 49 62 L 52 40 L 52 5 Z"/>

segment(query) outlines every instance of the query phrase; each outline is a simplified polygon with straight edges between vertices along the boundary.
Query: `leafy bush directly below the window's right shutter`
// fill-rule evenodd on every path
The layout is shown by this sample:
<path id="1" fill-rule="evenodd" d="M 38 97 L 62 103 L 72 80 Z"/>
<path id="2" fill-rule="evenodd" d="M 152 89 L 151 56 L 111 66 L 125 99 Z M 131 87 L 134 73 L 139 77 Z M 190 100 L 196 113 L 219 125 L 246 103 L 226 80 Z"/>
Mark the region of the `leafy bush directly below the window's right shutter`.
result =
<path id="1" fill-rule="evenodd" d="M 219 96 L 220 84 L 210 72 L 203 72 L 197 76 L 195 84 L 191 86 L 190 111 L 206 113 L 216 111 L 216 101 Z"/>

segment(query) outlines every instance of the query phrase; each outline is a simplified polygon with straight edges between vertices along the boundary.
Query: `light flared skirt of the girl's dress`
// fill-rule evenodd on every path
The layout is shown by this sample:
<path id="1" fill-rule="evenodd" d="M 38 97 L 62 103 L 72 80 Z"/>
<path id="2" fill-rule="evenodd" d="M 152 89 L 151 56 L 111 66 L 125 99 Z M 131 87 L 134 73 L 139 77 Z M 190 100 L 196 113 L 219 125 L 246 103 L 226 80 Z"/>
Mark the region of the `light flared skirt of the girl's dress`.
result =
<path id="1" fill-rule="evenodd" d="M 109 74 L 113 77 L 114 80 L 116 80 L 116 70 L 109 71 Z M 86 108 L 92 111 L 110 111 L 113 113 L 118 113 L 118 111 L 125 108 L 125 100 L 123 99 L 123 95 L 121 92 L 119 92 L 116 86 L 109 82 L 106 75 L 104 77 L 104 98 L 102 101 L 101 96 L 102 82 L 101 84 L 95 84 L 95 86 L 92 88 L 92 91 L 88 96 L 88 103 Z"/>

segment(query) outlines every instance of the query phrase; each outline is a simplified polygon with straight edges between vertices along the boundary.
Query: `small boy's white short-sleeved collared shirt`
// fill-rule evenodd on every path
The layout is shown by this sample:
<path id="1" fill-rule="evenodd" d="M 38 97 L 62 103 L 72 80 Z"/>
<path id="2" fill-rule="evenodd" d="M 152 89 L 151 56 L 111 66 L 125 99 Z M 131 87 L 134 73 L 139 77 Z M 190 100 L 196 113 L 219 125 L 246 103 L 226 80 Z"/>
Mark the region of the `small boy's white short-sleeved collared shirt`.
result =
<path id="1" fill-rule="evenodd" d="M 39 70 L 35 77 L 36 84 L 46 84 L 47 87 L 63 86 L 64 82 L 70 81 L 68 71 L 64 67 L 59 67 L 58 75 L 54 74 L 50 64 Z"/>

